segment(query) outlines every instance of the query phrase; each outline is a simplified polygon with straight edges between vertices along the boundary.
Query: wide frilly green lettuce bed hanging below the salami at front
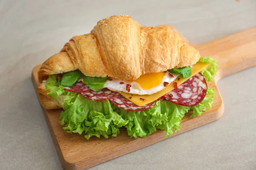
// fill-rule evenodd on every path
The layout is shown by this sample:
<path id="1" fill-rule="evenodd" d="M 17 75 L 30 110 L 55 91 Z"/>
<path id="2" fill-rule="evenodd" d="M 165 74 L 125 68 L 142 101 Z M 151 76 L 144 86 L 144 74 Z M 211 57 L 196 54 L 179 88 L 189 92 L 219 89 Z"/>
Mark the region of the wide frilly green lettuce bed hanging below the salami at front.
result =
<path id="1" fill-rule="evenodd" d="M 64 97 L 61 125 L 68 133 L 83 132 L 84 137 L 117 136 L 119 127 L 126 127 L 130 137 L 146 137 L 157 129 L 165 130 L 166 137 L 180 130 L 180 122 L 189 107 L 169 101 L 158 101 L 145 111 L 125 111 L 107 101 L 92 101 L 81 94 L 68 92 Z"/>

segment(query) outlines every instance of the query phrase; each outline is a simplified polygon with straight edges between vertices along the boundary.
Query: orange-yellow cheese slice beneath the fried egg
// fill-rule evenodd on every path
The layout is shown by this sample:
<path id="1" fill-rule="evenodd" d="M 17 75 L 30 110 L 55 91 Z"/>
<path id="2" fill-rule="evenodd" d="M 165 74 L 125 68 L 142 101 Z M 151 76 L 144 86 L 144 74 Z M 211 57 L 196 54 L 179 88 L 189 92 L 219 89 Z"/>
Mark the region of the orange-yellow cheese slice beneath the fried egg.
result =
<path id="1" fill-rule="evenodd" d="M 195 74 L 198 74 L 200 71 L 202 71 L 205 68 L 207 68 L 208 65 L 210 65 L 210 63 L 197 62 L 192 67 L 191 77 L 195 76 Z M 175 79 L 174 82 L 177 82 L 177 86 L 179 86 L 183 82 L 186 82 L 186 80 L 188 80 L 189 78 L 190 77 L 188 77 L 188 78 L 177 77 L 177 79 Z M 174 89 L 174 87 L 173 87 L 173 83 L 174 82 L 172 82 L 169 85 L 167 85 L 166 88 L 164 88 L 163 90 L 161 90 L 161 91 L 159 91 L 157 93 L 151 94 L 151 95 L 137 95 L 137 94 L 124 93 L 124 92 L 120 92 L 120 94 L 122 96 L 124 96 L 126 99 L 130 100 L 131 102 L 133 102 L 134 104 L 136 104 L 138 106 L 143 106 L 143 105 L 146 105 L 148 103 L 154 102 L 155 100 L 159 99 L 163 95 L 165 95 L 165 94 L 169 93 L 170 91 L 172 91 Z"/>

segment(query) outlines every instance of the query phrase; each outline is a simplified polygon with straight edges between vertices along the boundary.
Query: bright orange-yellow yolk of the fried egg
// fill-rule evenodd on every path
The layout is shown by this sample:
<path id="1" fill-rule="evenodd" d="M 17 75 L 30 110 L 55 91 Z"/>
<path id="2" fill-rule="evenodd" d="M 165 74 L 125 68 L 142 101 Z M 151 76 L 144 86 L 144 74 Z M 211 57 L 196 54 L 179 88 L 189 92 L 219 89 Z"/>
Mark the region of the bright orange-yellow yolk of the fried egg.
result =
<path id="1" fill-rule="evenodd" d="M 164 72 L 144 74 L 134 82 L 139 83 L 140 87 L 144 89 L 154 88 L 162 82 L 164 74 Z"/>

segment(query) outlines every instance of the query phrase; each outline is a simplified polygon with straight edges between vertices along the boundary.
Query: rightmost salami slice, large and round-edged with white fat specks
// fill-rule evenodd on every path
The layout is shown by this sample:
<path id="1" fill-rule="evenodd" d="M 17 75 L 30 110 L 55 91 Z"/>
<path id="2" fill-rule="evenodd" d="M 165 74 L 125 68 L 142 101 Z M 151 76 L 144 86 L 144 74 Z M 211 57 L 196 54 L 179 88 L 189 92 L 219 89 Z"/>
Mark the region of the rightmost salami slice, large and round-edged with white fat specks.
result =
<path id="1" fill-rule="evenodd" d="M 206 80 L 201 73 L 198 73 L 163 97 L 177 105 L 195 106 L 202 102 L 206 92 Z"/>

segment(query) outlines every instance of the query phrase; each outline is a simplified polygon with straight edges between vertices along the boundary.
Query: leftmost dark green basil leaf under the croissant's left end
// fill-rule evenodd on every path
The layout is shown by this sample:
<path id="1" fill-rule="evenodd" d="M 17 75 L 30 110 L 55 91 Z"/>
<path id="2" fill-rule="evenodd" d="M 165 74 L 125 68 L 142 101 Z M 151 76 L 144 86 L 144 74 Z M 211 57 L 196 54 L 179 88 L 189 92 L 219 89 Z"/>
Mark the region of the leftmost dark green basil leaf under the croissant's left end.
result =
<path id="1" fill-rule="evenodd" d="M 69 71 L 64 73 L 61 78 L 61 85 L 64 87 L 71 87 L 81 77 L 82 73 L 79 70 Z"/>

